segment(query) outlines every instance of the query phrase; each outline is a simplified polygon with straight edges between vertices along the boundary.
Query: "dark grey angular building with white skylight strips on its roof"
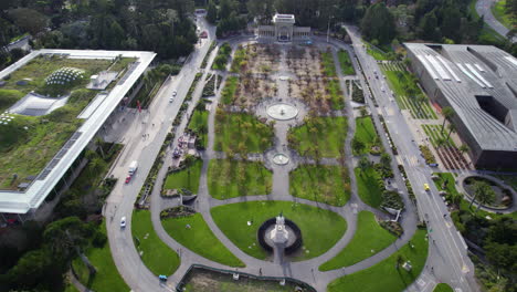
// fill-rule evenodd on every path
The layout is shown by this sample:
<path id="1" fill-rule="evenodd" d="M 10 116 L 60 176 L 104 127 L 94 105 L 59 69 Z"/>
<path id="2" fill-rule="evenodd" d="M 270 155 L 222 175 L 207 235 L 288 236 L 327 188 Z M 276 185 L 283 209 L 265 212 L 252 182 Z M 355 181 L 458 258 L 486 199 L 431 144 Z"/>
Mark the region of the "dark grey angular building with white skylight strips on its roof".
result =
<path id="1" fill-rule="evenodd" d="M 492 45 L 404 45 L 430 98 L 455 111 L 476 167 L 517 168 L 517 59 Z"/>

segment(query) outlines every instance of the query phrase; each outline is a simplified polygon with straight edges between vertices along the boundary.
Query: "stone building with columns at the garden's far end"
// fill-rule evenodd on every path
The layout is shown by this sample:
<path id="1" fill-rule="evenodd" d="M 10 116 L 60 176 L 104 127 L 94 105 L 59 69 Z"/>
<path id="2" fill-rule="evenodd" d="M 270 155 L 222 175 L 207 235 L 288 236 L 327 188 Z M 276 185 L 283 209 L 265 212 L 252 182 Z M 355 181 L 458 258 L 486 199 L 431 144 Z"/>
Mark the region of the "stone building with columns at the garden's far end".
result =
<path id="1" fill-rule="evenodd" d="M 295 27 L 293 14 L 275 14 L 273 25 L 260 25 L 257 38 L 271 39 L 279 42 L 302 41 L 310 38 L 309 27 Z"/>

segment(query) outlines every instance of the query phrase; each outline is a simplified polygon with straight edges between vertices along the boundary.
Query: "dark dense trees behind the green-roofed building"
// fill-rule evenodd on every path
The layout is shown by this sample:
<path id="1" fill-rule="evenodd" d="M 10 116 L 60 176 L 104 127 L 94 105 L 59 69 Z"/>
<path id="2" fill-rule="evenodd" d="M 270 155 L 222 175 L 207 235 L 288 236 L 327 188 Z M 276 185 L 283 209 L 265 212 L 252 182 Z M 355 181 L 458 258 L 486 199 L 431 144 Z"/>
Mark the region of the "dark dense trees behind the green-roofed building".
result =
<path id="1" fill-rule="evenodd" d="M 160 59 L 187 55 L 198 41 L 192 0 L 8 0 L 0 13 L 0 45 L 30 33 L 35 46 L 148 50 Z"/>

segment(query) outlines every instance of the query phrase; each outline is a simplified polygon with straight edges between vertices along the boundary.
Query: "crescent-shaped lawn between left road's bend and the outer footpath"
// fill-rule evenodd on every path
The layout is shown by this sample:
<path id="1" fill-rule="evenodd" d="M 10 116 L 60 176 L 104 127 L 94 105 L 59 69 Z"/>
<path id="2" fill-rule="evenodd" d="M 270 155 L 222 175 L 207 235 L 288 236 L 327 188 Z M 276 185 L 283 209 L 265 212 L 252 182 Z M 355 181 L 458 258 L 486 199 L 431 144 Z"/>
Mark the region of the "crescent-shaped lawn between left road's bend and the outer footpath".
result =
<path id="1" fill-rule="evenodd" d="M 154 274 L 172 274 L 180 265 L 180 258 L 156 233 L 152 228 L 150 211 L 135 210 L 131 219 L 131 232 L 140 259 Z"/>

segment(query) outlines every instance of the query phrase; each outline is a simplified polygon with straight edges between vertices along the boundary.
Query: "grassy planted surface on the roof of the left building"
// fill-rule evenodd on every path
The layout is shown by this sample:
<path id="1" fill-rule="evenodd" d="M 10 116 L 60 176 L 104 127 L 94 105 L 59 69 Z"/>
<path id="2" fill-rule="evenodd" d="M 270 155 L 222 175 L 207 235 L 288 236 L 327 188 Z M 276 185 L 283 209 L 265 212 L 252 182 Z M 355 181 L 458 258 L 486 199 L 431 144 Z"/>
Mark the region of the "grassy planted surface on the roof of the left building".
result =
<path id="1" fill-rule="evenodd" d="M 0 90 L 0 112 L 32 91 L 52 93 L 54 96 L 57 96 L 56 93 L 71 93 L 71 96 L 65 106 L 49 115 L 14 115 L 15 118 L 9 125 L 0 127 L 0 189 L 15 189 L 21 182 L 30 182 L 25 178 L 36 176 L 62 148 L 83 123 L 77 115 L 97 93 L 84 88 L 89 76 L 106 70 L 112 61 L 108 60 L 41 56 L 10 74 L 10 79 Z M 81 69 L 84 71 L 84 79 L 61 87 L 48 86 L 45 79 L 62 67 Z M 21 80 L 28 81 L 28 84 L 18 85 L 17 82 Z"/>

